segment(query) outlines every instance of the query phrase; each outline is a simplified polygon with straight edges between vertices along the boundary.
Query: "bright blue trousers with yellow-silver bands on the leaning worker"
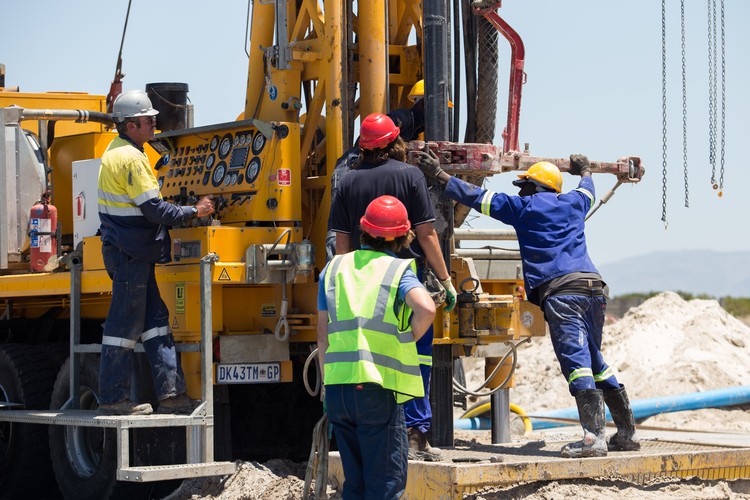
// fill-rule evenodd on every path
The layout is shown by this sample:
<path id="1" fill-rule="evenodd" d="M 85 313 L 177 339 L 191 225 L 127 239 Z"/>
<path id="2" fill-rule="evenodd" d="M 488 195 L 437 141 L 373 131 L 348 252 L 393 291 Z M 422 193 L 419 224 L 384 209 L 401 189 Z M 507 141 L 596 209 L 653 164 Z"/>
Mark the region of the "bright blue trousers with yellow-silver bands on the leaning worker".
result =
<path id="1" fill-rule="evenodd" d="M 618 389 L 601 353 L 607 299 L 602 295 L 552 295 L 544 301 L 552 347 L 575 396 L 583 389 Z"/>

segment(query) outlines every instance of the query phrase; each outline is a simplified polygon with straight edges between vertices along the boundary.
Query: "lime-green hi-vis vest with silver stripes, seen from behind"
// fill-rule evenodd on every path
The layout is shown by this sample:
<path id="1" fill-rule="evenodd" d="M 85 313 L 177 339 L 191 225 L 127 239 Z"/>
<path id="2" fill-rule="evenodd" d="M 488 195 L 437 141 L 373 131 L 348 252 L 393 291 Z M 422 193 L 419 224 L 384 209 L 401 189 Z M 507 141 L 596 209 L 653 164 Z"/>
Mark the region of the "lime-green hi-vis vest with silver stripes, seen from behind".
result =
<path id="1" fill-rule="evenodd" d="M 409 325 L 411 309 L 394 303 L 413 259 L 357 250 L 337 255 L 326 272 L 328 350 L 326 384 L 375 383 L 403 403 L 424 396 L 417 346 Z"/>

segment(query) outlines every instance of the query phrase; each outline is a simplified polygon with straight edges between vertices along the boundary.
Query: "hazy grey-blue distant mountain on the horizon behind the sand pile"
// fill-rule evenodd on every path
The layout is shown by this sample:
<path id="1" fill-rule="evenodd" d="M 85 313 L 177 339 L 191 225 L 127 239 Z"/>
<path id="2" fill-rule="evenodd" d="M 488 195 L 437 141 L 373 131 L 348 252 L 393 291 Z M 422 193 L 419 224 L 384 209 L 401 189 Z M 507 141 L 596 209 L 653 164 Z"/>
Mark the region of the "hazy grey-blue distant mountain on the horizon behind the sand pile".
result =
<path id="1" fill-rule="evenodd" d="M 750 252 L 655 252 L 597 268 L 612 297 L 667 290 L 750 297 Z"/>

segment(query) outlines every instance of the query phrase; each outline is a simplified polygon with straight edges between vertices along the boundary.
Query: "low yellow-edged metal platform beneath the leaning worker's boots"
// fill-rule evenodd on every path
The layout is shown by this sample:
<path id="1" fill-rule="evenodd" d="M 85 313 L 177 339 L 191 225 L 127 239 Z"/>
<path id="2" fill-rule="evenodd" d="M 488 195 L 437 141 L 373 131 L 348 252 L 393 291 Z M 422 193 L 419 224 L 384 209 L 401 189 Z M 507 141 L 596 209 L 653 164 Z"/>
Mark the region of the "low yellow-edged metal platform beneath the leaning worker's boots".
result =
<path id="1" fill-rule="evenodd" d="M 585 459 L 560 457 L 560 448 L 569 441 L 445 448 L 441 462 L 409 462 L 403 498 L 460 499 L 482 488 L 560 479 L 618 477 L 643 483 L 655 477 L 750 478 L 747 439 L 731 445 L 716 437 L 693 435 L 695 441 L 649 438 L 638 452 L 610 452 L 606 457 Z M 330 454 L 329 474 L 343 484 L 338 452 Z"/>

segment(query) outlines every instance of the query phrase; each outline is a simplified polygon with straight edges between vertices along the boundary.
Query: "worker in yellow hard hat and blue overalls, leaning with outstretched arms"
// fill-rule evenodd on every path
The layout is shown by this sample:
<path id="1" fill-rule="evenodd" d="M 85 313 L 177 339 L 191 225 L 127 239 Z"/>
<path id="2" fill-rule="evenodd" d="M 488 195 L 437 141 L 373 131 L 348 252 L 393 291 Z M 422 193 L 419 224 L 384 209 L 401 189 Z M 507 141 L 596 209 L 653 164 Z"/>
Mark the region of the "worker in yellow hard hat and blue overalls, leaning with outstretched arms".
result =
<path id="1" fill-rule="evenodd" d="M 445 194 L 484 215 L 511 225 L 518 235 L 528 299 L 540 306 L 584 437 L 562 449 L 564 457 L 605 456 L 607 450 L 638 450 L 635 421 L 625 387 L 601 353 L 606 284 L 589 258 L 585 218 L 594 203 L 591 167 L 583 155 L 570 157 L 578 187 L 562 191 L 560 170 L 549 162 L 532 165 L 513 182 L 518 196 L 493 193 L 450 176 L 434 152 L 420 152 L 426 176 L 445 183 Z M 605 409 L 617 433 L 605 439 Z"/>

